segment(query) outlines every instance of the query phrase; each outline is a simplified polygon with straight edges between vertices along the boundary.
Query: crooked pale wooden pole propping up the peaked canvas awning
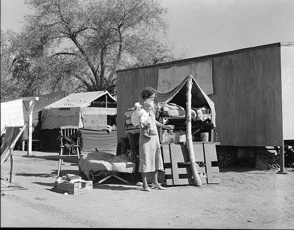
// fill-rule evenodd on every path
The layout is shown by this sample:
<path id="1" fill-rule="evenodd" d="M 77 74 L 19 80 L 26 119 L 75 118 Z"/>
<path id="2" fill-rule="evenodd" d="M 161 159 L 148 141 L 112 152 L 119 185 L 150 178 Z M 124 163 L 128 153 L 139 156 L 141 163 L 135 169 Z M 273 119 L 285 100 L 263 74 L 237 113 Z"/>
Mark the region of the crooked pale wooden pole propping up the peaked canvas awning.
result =
<path id="1" fill-rule="evenodd" d="M 200 180 L 196 162 L 195 162 L 195 156 L 194 156 L 194 149 L 193 149 L 193 142 L 192 142 L 192 131 L 191 131 L 191 88 L 192 88 L 192 76 L 190 75 L 187 80 L 187 91 L 186 91 L 186 107 L 187 107 L 187 123 L 186 123 L 186 134 L 187 134 L 187 148 L 189 152 L 189 158 L 191 163 L 191 170 L 194 182 L 197 186 L 202 186 L 202 182 Z"/>

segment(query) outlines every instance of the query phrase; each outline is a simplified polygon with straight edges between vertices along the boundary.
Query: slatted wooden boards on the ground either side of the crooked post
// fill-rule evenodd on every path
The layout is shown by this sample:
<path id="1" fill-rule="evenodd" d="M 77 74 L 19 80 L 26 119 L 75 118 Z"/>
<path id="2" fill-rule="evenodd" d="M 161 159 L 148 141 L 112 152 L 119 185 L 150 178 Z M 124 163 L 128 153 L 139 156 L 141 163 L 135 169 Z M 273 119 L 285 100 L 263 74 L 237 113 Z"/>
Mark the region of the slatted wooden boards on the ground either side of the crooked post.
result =
<path id="1" fill-rule="evenodd" d="M 220 179 L 216 173 L 218 166 L 212 166 L 217 161 L 216 145 L 212 142 L 193 143 L 195 162 L 202 184 L 218 184 Z M 185 144 L 162 144 L 163 163 L 166 185 L 194 184 L 189 153 Z"/>

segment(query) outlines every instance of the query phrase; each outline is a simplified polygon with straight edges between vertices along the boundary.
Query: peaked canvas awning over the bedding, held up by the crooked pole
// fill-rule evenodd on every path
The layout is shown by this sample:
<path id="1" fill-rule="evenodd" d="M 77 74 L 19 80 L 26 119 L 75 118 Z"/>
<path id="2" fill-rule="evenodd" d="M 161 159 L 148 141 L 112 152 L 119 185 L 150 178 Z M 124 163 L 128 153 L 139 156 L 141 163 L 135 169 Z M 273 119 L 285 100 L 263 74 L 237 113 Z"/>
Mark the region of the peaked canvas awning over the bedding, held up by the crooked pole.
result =
<path id="1" fill-rule="evenodd" d="M 214 102 L 204 93 L 204 91 L 200 88 L 200 86 L 195 81 L 192 75 L 188 75 L 182 83 L 180 83 L 175 89 L 168 93 L 161 93 L 154 89 L 156 92 L 156 98 L 154 99 L 154 103 L 158 102 L 170 102 L 180 105 L 186 108 L 186 83 L 189 77 L 192 77 L 192 89 L 191 89 L 191 106 L 194 108 L 200 108 L 203 106 L 207 106 L 211 109 L 212 118 L 211 123 L 214 127 L 216 127 L 216 111 Z"/>

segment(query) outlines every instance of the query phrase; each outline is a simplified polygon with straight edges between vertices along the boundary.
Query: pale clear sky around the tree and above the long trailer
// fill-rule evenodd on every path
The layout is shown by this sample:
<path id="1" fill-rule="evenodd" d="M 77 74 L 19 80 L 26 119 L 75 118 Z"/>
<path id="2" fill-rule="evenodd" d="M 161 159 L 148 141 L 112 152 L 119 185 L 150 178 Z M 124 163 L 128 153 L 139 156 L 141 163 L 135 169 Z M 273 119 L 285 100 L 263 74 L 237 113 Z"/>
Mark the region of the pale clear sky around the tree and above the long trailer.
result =
<path id="1" fill-rule="evenodd" d="M 19 31 L 24 0 L 0 0 L 0 28 Z M 163 0 L 169 40 L 185 58 L 294 41 L 294 0 Z"/>

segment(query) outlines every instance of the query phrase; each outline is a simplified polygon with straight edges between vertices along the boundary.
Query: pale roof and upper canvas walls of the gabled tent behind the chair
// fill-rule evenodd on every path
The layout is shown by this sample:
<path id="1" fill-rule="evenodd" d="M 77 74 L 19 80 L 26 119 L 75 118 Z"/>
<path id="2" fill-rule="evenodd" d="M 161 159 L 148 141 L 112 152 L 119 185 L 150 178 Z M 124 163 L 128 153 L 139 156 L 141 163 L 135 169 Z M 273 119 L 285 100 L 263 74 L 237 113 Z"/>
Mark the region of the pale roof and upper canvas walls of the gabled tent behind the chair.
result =
<path id="1" fill-rule="evenodd" d="M 79 126 L 91 130 L 107 129 L 107 115 L 116 114 L 116 99 L 108 91 L 71 94 L 42 110 L 42 130 Z"/>

